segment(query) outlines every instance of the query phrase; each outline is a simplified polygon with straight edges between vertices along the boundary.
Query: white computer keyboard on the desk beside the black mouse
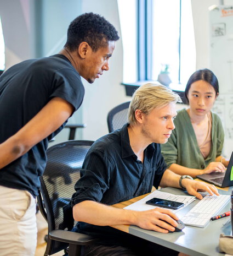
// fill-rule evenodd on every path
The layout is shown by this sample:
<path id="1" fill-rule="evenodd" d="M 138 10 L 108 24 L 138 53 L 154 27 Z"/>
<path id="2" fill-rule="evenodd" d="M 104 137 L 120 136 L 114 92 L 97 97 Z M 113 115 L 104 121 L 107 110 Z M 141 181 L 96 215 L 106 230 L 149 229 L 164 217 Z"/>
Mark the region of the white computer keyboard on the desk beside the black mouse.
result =
<path id="1" fill-rule="evenodd" d="M 206 195 L 181 218 L 181 221 L 188 226 L 205 227 L 211 217 L 221 214 L 219 211 L 229 200 L 230 195 Z"/>

